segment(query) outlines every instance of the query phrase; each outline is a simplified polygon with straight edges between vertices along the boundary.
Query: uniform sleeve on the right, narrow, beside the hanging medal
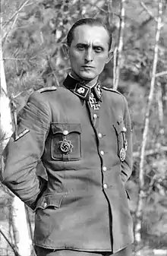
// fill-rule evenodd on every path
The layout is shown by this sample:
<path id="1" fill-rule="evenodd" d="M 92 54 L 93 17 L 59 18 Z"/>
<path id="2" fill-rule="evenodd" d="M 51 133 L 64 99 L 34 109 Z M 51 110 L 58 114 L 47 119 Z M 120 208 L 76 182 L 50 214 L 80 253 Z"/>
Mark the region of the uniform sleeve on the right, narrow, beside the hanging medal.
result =
<path id="1" fill-rule="evenodd" d="M 124 98 L 124 97 L 123 97 Z M 121 162 L 121 180 L 123 183 L 127 182 L 132 172 L 132 132 L 131 132 L 131 117 L 128 109 L 127 100 L 124 98 L 124 125 L 127 128 L 126 139 L 128 142 L 128 147 L 126 151 L 126 157 L 123 162 Z"/>

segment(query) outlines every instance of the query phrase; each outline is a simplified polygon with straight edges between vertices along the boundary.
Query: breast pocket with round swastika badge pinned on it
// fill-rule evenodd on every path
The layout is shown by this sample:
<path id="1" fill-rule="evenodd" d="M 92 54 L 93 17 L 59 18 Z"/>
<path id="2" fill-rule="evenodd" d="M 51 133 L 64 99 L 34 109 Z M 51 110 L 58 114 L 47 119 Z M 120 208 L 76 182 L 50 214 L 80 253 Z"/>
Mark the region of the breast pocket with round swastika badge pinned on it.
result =
<path id="1" fill-rule="evenodd" d="M 52 124 L 51 156 L 53 160 L 80 160 L 80 124 Z"/>

